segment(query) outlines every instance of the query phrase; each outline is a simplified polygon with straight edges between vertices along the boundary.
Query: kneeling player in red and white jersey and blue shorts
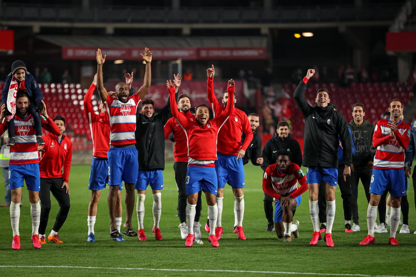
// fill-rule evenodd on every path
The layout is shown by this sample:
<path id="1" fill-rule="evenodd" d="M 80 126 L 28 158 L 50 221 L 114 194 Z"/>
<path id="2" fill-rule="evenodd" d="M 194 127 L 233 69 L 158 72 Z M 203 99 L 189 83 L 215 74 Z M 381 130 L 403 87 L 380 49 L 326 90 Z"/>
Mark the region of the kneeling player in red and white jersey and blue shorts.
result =
<path id="1" fill-rule="evenodd" d="M 292 224 L 296 207 L 302 201 L 302 194 L 307 191 L 306 176 L 297 164 L 291 163 L 289 151 L 279 150 L 275 164 L 267 167 L 263 176 L 263 191 L 275 198 L 275 230 L 277 238 L 292 241 L 299 238 L 299 221 Z M 300 187 L 297 187 L 299 181 Z M 282 223 L 283 221 L 283 223 Z"/>

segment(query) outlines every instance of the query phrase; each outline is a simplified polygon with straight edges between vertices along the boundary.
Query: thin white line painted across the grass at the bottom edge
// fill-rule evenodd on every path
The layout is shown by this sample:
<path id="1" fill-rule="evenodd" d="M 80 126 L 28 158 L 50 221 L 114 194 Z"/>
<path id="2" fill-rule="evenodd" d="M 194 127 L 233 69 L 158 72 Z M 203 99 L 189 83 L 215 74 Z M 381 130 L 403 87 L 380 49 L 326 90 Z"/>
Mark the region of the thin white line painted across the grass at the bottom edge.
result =
<path id="1" fill-rule="evenodd" d="M 178 271 L 178 272 L 233 272 L 233 273 L 271 273 L 271 274 L 296 274 L 296 275 L 331 275 L 331 276 L 358 276 L 358 277 L 414 277 L 398 275 L 366 275 L 343 273 L 314 273 L 314 272 L 285 272 L 285 271 L 255 271 L 255 270 L 209 270 L 209 269 L 171 269 L 171 268 L 144 268 L 144 267 L 81 267 L 67 265 L 0 265 L 3 267 L 27 267 L 27 268 L 73 268 L 73 269 L 104 269 L 104 270 L 149 270 L 149 271 Z"/>

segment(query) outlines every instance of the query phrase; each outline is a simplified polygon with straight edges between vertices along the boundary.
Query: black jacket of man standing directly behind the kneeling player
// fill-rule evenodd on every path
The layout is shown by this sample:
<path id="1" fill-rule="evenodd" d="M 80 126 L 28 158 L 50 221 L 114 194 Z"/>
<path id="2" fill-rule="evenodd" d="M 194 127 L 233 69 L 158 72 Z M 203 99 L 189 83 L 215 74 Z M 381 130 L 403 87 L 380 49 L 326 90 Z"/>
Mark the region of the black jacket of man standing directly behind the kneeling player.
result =
<path id="1" fill-rule="evenodd" d="M 274 133 L 272 138 L 267 140 L 263 147 L 263 152 L 261 154 L 263 157 L 263 164 L 261 164 L 260 167 L 263 170 L 266 170 L 270 164 L 276 163 L 277 151 L 281 149 L 290 151 L 290 162 L 297 164 L 300 167 L 302 166 L 302 151 L 300 150 L 299 142 L 290 135 L 282 138 L 279 137 L 277 133 Z"/>

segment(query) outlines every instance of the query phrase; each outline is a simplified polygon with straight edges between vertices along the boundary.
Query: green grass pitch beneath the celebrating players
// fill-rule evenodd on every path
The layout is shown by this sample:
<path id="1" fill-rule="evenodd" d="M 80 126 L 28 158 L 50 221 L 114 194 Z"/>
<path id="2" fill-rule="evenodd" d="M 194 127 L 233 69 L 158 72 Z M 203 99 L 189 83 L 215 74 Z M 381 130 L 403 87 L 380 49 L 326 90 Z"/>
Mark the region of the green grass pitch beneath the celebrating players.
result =
<path id="1" fill-rule="evenodd" d="M 416 228 L 414 191 L 409 186 L 410 234 L 397 234 L 401 243 L 398 247 L 388 245 L 389 234 L 376 234 L 376 244 L 360 246 L 359 242 L 367 234 L 367 203 L 362 187 L 359 191 L 359 216 L 361 232 L 344 233 L 342 199 L 337 189 L 337 213 L 332 230 L 335 247 L 327 248 L 324 241 L 310 246 L 312 223 L 309 216 L 308 192 L 298 207 L 295 219 L 300 221 L 300 238 L 292 243 L 283 243 L 274 232 L 265 232 L 266 219 L 263 211 L 262 170 L 251 164 L 245 166 L 245 215 L 244 230 L 246 241 L 233 234 L 233 195 L 229 186 L 225 189 L 223 228 L 224 235 L 219 248 L 212 248 L 203 232 L 204 245 L 194 244 L 186 248 L 180 238 L 177 213 L 178 193 L 173 178 L 173 164 L 167 163 L 163 172 L 164 189 L 162 193 L 162 216 L 160 221 L 162 241 L 154 240 L 152 195 L 147 190 L 145 231 L 148 240 L 126 238 L 126 242 L 115 242 L 109 237 L 109 212 L 106 201 L 107 189 L 99 202 L 97 223 L 95 224 L 96 243 L 87 243 L 87 207 L 90 191 L 87 190 L 89 178 L 88 165 L 74 165 L 69 176 L 71 209 L 59 236 L 64 244 L 47 243 L 35 250 L 30 243 L 31 221 L 30 204 L 26 188 L 23 190 L 23 206 L 20 214 L 20 237 L 22 248 L 12 250 L 12 230 L 8 208 L 0 209 L 0 275 L 1 276 L 265 276 L 294 275 L 292 272 L 309 275 L 416 275 L 415 245 Z M 2 179 L 1 179 L 2 180 Z M 1 182 L 2 184 L 2 182 Z M 4 190 L 1 186 L 0 199 Z M 51 196 L 52 197 L 52 196 Z M 124 192 L 123 192 L 124 199 Z M 2 202 L 2 201 L 1 201 Z M 57 202 L 52 199 L 47 233 L 50 232 L 58 211 Z M 124 210 L 125 212 L 125 210 Z M 201 225 L 207 216 L 206 201 L 203 198 Z M 125 216 L 123 216 L 124 220 Z M 133 225 L 137 228 L 136 213 Z M 400 226 L 399 226 L 400 228 Z M 389 228 L 388 228 L 389 229 Z M 136 229 L 135 229 L 136 230 Z M 22 267 L 4 267 L 22 266 Z M 51 267 L 51 266 L 67 266 Z M 78 268 L 77 268 L 78 267 Z M 93 267 L 93 268 L 84 268 Z M 109 269 L 111 268 L 111 269 Z M 123 269 L 121 269 L 123 268 Z M 145 270 L 140 270 L 145 269 Z M 130 270 L 128 270 L 130 269 Z M 178 271 L 160 271 L 170 269 Z M 181 270 L 222 270 L 220 272 L 181 271 Z M 230 270 L 227 272 L 227 270 Z M 243 272 L 231 272 L 241 270 Z M 266 273 L 271 271 L 274 273 Z M 276 273 L 286 272 L 286 273 Z M 292 274 L 291 274 L 292 273 Z M 299 275 L 296 273 L 295 275 Z M 315 273 L 315 274 L 311 274 Z"/>

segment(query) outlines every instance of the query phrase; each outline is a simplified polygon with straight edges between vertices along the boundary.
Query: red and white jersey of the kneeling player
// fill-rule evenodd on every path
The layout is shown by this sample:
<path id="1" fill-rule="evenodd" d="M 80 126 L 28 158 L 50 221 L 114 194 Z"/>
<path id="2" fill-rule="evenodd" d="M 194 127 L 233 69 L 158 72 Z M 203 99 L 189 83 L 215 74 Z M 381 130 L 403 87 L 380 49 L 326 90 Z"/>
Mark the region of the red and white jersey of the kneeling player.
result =
<path id="1" fill-rule="evenodd" d="M 297 187 L 299 181 L 300 188 Z M 269 165 L 263 176 L 263 191 L 279 200 L 280 196 L 296 198 L 307 191 L 306 175 L 297 164 L 290 163 L 286 172 L 280 172 L 277 163 Z"/>

